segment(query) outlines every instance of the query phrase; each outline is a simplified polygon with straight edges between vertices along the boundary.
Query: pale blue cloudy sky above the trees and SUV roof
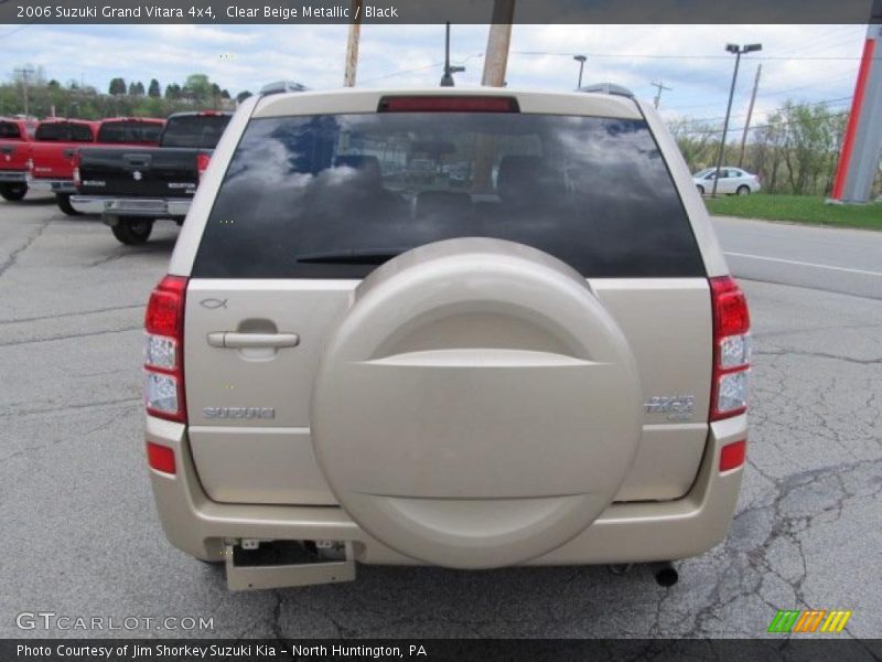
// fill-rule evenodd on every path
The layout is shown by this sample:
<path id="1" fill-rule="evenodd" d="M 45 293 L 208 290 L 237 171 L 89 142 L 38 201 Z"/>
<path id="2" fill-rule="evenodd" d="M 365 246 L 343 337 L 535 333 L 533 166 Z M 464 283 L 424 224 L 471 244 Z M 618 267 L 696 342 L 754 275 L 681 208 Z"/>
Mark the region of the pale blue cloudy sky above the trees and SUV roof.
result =
<path id="1" fill-rule="evenodd" d="M 106 90 L 114 76 L 147 84 L 205 73 L 233 94 L 281 78 L 311 88 L 343 78 L 345 25 L 0 25 L 7 72 L 42 65 L 62 82 Z M 441 76 L 443 26 L 365 25 L 358 85 L 434 86 Z M 508 84 L 572 89 L 585 54 L 584 81 L 612 81 L 652 98 L 653 82 L 671 87 L 668 116 L 719 121 L 725 113 L 732 55 L 727 42 L 762 42 L 742 60 L 733 127 L 742 126 L 757 64 L 763 65 L 757 118 L 787 98 L 848 108 L 865 36 L 863 25 L 516 25 Z M 454 25 L 452 53 L 466 67 L 460 86 L 477 85 L 486 25 Z"/>

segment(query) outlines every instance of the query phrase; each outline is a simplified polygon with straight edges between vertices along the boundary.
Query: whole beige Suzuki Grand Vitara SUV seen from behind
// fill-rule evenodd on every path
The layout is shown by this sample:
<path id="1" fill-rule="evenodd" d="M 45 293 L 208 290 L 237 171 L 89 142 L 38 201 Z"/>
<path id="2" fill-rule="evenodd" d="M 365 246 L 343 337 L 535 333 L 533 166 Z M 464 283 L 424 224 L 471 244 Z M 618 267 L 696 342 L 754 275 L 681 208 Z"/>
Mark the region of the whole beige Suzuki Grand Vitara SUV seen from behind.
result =
<path id="1" fill-rule="evenodd" d="M 700 554 L 741 483 L 749 324 L 631 96 L 249 99 L 147 310 L 162 525 L 234 589 Z"/>

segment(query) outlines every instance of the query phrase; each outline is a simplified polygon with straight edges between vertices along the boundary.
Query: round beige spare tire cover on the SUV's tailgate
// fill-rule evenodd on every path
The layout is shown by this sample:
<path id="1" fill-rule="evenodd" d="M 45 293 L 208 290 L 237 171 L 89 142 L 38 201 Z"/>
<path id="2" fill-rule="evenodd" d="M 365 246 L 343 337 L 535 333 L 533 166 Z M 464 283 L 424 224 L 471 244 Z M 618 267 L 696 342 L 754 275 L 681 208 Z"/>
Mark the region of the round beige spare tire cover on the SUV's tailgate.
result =
<path id="1" fill-rule="evenodd" d="M 631 349 L 585 279 L 534 248 L 430 244 L 364 280 L 331 334 L 312 439 L 341 505 L 412 558 L 541 556 L 610 504 L 641 436 Z"/>

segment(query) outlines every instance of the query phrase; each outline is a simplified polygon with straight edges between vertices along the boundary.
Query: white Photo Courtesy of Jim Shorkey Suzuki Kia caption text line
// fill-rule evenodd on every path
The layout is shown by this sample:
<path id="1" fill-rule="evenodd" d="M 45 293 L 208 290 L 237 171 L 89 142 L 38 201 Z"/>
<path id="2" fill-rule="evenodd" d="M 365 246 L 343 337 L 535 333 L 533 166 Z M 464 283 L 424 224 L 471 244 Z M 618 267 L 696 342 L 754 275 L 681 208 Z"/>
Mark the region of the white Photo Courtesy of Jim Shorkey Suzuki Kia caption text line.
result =
<path id="1" fill-rule="evenodd" d="M 53 644 L 31 645 L 18 644 L 15 653 L 20 659 L 26 658 L 88 658 L 93 660 L 217 660 L 222 658 L 272 658 L 278 655 L 300 658 L 374 658 L 374 659 L 415 659 L 428 660 L 430 653 L 421 644 L 407 645 L 358 645 L 358 644 L 268 644 L 268 643 L 237 643 L 219 645 L 214 643 L 163 644 L 155 643 L 142 645 L 126 643 L 120 645 L 104 644 Z"/>

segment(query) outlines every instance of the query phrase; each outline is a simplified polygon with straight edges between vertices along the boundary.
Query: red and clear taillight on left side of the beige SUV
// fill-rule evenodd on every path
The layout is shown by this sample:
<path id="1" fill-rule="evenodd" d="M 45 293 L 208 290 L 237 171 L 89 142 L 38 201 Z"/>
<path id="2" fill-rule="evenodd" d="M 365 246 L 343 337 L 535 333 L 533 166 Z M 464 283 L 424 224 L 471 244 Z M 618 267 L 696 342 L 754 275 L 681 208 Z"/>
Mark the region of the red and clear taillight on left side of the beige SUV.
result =
<path id="1" fill-rule="evenodd" d="M 186 278 L 165 276 L 144 314 L 144 405 L 151 416 L 186 423 L 184 301 Z"/>

